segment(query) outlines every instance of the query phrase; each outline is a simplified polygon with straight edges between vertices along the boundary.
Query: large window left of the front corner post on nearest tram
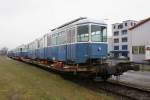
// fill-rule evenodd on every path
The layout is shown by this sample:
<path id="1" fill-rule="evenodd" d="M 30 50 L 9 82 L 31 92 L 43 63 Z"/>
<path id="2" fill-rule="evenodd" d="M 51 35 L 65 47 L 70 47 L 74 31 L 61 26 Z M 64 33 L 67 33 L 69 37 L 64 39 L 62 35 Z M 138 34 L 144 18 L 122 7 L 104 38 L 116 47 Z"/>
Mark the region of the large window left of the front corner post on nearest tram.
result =
<path id="1" fill-rule="evenodd" d="M 89 41 L 89 26 L 79 26 L 77 28 L 77 40 L 78 42 L 87 42 Z"/>

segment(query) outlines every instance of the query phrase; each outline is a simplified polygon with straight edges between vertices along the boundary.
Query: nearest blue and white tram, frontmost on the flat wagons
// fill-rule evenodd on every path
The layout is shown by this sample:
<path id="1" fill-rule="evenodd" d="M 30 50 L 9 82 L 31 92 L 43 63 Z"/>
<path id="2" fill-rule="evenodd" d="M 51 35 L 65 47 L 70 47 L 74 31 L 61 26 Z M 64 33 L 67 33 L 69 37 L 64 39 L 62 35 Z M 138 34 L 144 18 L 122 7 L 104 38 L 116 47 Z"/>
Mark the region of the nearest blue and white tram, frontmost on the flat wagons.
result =
<path id="1" fill-rule="evenodd" d="M 107 24 L 79 18 L 47 35 L 46 57 L 66 63 L 86 63 L 107 56 Z"/>

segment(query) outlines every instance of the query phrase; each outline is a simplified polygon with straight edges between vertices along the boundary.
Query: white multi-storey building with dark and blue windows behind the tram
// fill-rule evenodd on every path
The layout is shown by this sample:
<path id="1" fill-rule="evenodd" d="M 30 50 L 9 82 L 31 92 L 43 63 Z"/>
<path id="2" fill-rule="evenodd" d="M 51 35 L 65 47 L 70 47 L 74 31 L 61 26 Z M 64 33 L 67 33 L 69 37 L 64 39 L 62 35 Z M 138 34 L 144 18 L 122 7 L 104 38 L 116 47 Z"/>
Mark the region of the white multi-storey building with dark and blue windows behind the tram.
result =
<path id="1" fill-rule="evenodd" d="M 126 20 L 122 23 L 112 24 L 112 55 L 114 58 L 118 58 L 120 56 L 129 57 L 129 28 L 135 26 L 137 21 L 134 20 Z"/>

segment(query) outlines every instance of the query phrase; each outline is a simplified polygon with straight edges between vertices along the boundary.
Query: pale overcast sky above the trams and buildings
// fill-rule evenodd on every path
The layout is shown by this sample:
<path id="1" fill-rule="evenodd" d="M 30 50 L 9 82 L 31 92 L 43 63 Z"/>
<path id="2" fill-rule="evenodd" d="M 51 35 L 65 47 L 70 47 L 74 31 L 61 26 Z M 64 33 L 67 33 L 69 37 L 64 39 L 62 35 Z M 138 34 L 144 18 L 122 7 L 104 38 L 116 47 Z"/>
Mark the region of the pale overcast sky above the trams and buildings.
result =
<path id="1" fill-rule="evenodd" d="M 150 0 L 0 0 L 0 48 L 29 43 L 78 17 L 108 19 L 108 24 L 145 19 L 150 17 L 149 4 Z"/>

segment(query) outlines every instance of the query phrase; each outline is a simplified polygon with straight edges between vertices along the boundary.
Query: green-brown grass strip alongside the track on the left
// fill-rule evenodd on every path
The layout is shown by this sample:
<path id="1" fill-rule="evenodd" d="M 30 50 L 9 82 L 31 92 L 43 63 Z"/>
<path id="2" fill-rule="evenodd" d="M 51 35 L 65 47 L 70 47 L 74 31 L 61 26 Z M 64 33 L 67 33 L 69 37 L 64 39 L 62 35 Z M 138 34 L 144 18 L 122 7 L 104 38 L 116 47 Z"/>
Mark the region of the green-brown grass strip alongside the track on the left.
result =
<path id="1" fill-rule="evenodd" d="M 0 57 L 0 100 L 115 100 L 61 76 Z"/>

